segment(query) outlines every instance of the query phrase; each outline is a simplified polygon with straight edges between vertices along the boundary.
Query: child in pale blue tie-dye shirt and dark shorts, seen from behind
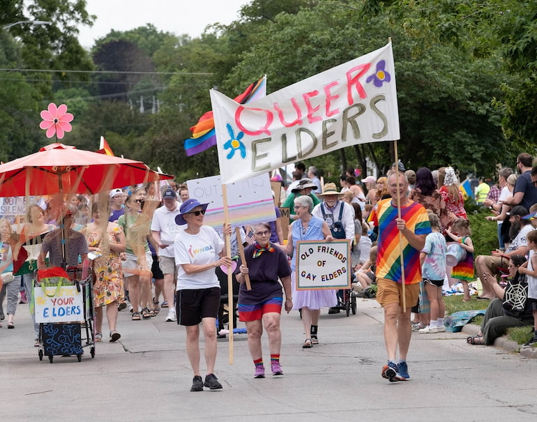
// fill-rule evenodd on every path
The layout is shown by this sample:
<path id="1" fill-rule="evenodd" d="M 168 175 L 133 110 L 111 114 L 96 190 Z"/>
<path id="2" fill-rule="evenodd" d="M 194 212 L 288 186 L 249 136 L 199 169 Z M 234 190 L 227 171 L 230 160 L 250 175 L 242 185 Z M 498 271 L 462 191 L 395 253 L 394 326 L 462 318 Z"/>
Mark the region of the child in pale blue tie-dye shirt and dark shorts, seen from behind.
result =
<path id="1" fill-rule="evenodd" d="M 420 333 L 439 333 L 446 331 L 444 314 L 446 306 L 442 297 L 442 286 L 446 278 L 446 239 L 441 234 L 440 220 L 428 211 L 432 233 L 425 238 L 425 246 L 420 253 L 421 276 L 430 302 L 430 322 L 419 330 Z"/>

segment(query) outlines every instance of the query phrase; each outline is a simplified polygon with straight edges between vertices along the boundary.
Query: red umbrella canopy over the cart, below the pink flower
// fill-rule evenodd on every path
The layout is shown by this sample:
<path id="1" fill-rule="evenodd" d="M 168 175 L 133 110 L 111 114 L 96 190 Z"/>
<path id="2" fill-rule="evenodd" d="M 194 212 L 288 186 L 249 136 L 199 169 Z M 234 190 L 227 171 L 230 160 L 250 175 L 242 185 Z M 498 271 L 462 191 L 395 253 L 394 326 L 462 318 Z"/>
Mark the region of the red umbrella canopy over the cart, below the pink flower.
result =
<path id="1" fill-rule="evenodd" d="M 141 161 L 50 144 L 39 152 L 0 165 L 0 197 L 86 193 L 122 188 L 173 176 Z"/>

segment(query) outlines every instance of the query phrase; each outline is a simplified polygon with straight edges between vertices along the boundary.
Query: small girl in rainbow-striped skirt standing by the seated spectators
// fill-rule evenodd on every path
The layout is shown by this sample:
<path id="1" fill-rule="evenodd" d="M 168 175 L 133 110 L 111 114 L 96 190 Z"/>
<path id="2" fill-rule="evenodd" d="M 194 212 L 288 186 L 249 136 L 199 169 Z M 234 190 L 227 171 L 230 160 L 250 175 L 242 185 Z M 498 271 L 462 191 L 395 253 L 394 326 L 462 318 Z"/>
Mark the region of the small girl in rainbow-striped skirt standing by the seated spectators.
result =
<path id="1" fill-rule="evenodd" d="M 451 277 L 457 278 L 462 283 L 464 290 L 463 302 L 470 300 L 470 289 L 468 282 L 474 280 L 474 243 L 472 243 L 470 222 L 466 218 L 458 218 L 447 231 L 448 236 L 455 242 L 460 243 L 462 249 L 466 250 L 466 257 L 462 259 L 451 270 Z"/>

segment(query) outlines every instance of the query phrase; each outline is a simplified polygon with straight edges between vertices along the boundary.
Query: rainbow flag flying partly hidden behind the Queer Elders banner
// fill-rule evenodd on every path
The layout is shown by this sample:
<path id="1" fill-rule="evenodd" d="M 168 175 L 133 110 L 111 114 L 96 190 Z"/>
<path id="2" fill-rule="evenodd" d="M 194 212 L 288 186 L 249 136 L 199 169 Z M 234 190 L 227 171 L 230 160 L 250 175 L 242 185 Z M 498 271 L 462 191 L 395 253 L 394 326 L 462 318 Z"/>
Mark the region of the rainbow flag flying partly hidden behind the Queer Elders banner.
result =
<path id="1" fill-rule="evenodd" d="M 234 98 L 236 103 L 246 104 L 252 103 L 258 98 L 266 96 L 266 77 L 262 77 L 257 82 L 250 84 L 246 91 L 240 96 Z M 190 157 L 211 146 L 216 145 L 216 133 L 214 130 L 213 112 L 206 112 L 199 118 L 195 126 L 190 128 L 192 137 L 184 141 L 186 156 Z"/>

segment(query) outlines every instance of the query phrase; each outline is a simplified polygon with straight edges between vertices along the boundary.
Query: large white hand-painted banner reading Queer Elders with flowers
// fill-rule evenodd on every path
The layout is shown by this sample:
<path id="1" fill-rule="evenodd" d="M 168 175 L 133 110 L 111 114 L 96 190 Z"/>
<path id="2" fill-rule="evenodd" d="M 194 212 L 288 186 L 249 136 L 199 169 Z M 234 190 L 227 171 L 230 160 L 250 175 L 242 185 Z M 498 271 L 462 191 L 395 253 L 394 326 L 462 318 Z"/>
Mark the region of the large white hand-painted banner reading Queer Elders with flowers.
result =
<path id="1" fill-rule="evenodd" d="M 391 43 L 247 105 L 211 102 L 222 183 L 400 137 Z"/>

